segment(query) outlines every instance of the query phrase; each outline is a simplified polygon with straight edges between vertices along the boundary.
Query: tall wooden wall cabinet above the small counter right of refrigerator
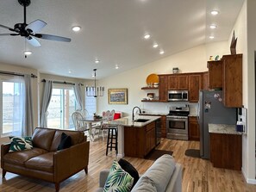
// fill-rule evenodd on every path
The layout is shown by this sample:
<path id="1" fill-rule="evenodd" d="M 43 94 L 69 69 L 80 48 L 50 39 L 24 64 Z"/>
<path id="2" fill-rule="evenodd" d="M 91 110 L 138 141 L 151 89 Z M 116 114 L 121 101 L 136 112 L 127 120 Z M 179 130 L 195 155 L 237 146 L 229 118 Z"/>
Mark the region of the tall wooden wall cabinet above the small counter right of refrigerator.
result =
<path id="1" fill-rule="evenodd" d="M 223 98 L 228 108 L 242 107 L 242 54 L 223 55 Z"/>

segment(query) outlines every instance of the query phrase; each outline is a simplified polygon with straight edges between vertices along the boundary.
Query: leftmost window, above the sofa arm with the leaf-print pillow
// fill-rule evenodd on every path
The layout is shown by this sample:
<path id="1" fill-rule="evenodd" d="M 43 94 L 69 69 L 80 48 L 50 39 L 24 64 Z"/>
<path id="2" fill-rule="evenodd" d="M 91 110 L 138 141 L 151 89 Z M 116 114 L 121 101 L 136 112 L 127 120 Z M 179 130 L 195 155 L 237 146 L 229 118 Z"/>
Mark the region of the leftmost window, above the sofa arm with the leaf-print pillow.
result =
<path id="1" fill-rule="evenodd" d="M 22 82 L 22 77 L 0 77 L 1 137 L 22 133 Z"/>

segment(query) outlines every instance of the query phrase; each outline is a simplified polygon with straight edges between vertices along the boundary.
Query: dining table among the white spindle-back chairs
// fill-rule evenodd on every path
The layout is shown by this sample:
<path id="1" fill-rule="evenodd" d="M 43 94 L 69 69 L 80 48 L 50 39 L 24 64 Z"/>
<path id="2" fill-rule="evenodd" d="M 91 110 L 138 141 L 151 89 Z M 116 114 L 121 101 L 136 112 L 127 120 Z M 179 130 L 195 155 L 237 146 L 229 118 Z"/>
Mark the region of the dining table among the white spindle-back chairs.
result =
<path id="1" fill-rule="evenodd" d="M 94 136 L 95 136 L 95 132 L 96 130 L 94 130 L 94 132 L 92 131 L 94 128 L 100 128 L 103 124 L 103 118 L 98 118 L 95 116 L 86 116 L 84 119 L 80 120 L 80 121 L 84 121 L 84 123 L 86 123 L 87 127 L 88 127 L 88 133 L 89 133 L 89 137 L 91 138 L 91 141 L 94 141 Z"/>

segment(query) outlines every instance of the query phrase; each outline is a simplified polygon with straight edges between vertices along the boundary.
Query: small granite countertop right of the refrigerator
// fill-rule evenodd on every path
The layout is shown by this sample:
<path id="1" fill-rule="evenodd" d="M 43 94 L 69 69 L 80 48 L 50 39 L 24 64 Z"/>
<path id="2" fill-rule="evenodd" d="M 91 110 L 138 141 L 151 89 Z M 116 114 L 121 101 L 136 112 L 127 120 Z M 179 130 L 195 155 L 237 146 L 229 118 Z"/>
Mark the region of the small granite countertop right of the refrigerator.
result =
<path id="1" fill-rule="evenodd" d="M 235 130 L 235 125 L 209 124 L 209 133 L 242 134 Z"/>

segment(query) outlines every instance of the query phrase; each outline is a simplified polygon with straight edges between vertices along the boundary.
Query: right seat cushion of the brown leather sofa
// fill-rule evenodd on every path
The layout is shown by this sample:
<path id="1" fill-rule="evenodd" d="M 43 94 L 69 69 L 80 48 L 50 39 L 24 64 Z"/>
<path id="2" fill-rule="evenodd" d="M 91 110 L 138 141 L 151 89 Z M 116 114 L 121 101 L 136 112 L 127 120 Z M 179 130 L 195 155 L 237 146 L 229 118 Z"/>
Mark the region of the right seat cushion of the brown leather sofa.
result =
<path id="1" fill-rule="evenodd" d="M 53 153 L 54 152 L 47 152 L 37 157 L 30 158 L 25 162 L 25 166 L 28 169 L 53 172 Z"/>

